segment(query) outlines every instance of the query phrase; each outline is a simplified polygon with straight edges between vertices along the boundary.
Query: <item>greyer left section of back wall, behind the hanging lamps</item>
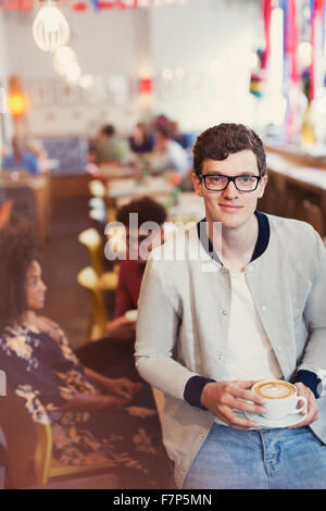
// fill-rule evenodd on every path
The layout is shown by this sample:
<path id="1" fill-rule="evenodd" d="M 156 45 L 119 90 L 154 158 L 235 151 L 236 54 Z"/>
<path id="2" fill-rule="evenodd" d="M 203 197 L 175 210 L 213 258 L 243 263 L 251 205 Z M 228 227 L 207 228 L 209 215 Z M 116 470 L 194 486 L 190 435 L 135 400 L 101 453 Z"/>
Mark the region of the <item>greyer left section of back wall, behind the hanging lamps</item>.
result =
<path id="1" fill-rule="evenodd" d="M 98 13 L 89 10 L 65 14 L 72 29 L 70 46 L 77 54 L 82 71 L 97 78 L 96 90 L 86 94 L 88 99 L 79 87 L 74 88 L 77 97 L 71 107 L 62 107 L 62 100 L 58 98 L 64 82 L 53 70 L 51 54 L 38 50 L 34 42 L 32 24 L 35 14 L 5 15 L 10 74 L 20 76 L 29 92 L 37 83 L 45 84 L 53 98 L 49 107 L 30 109 L 28 132 L 32 135 L 92 135 L 105 122 L 113 122 L 121 130 L 126 130 L 142 113 L 137 75 L 141 63 L 148 61 L 148 45 L 142 36 L 148 32 L 147 11 Z M 127 98 L 123 91 L 108 96 L 110 78 L 125 80 Z"/>

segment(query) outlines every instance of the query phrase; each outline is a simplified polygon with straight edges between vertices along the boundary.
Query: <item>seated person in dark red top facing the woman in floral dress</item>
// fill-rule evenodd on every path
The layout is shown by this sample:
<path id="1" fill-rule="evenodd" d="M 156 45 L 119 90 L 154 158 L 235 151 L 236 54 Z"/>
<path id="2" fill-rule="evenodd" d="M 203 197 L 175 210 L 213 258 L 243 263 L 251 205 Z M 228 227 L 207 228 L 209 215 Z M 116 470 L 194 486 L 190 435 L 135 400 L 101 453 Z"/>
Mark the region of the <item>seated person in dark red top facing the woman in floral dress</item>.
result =
<path id="1" fill-rule="evenodd" d="M 131 213 L 138 214 L 139 227 L 146 222 L 158 224 L 160 233 L 155 241 L 158 245 L 164 241 L 166 211 L 162 204 L 150 197 L 141 197 L 120 208 L 116 222 L 121 222 L 126 228 L 127 254 L 126 260 L 120 262 L 114 317 L 106 324 L 108 337 L 78 348 L 77 353 L 79 359 L 90 364 L 92 369 L 106 372 L 108 365 L 114 365 L 114 374 L 124 371 L 128 372 L 133 379 L 139 379 L 134 360 L 136 320 L 128 319 L 126 313 L 138 308 L 138 297 L 147 263 L 147 260 L 139 253 L 139 246 L 149 235 L 140 232 L 139 228 L 130 228 L 129 215 Z M 129 258 L 130 250 L 137 253 L 137 259 Z"/>

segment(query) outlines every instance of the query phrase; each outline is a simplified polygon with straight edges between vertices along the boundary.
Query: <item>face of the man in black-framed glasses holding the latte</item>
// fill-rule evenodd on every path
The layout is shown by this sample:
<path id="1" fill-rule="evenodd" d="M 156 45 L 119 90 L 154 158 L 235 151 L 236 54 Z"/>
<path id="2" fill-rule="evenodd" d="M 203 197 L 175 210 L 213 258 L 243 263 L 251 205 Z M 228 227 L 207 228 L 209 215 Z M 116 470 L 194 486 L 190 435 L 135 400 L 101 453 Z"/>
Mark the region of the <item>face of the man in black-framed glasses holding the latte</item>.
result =
<path id="1" fill-rule="evenodd" d="M 225 160 L 204 160 L 202 175 L 208 174 L 260 175 L 255 154 L 251 150 L 229 154 Z M 258 199 L 263 197 L 267 176 L 262 177 L 254 191 L 239 191 L 233 182 L 223 191 L 210 191 L 197 176 L 192 176 L 192 182 L 197 195 L 204 199 L 206 220 L 221 222 L 226 228 L 238 228 L 252 219 Z"/>

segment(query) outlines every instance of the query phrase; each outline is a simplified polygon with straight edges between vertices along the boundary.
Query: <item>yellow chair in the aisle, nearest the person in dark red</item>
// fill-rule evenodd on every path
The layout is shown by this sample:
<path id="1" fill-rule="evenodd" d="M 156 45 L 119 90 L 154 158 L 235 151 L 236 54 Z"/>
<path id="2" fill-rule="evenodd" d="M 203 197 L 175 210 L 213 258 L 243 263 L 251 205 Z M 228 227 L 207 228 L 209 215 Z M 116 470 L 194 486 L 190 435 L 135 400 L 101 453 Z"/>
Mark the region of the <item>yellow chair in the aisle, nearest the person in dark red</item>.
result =
<path id="1" fill-rule="evenodd" d="M 114 272 L 112 274 L 115 275 Z M 87 266 L 78 273 L 77 282 L 89 295 L 86 339 L 98 340 L 105 336 L 105 324 L 108 322 L 99 276 L 91 266 Z"/>

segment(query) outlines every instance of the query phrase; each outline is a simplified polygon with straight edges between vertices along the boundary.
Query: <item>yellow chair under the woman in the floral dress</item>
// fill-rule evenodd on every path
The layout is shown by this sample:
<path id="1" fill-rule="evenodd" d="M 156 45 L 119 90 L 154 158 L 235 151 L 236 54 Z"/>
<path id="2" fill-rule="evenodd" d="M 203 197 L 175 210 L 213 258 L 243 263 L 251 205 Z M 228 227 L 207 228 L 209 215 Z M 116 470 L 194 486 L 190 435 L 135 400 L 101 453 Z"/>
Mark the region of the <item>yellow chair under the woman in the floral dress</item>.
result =
<path id="1" fill-rule="evenodd" d="M 7 444 L 5 486 L 9 489 L 42 487 L 55 482 L 60 487 L 62 479 L 71 481 L 82 473 L 93 475 L 97 471 L 108 471 L 112 487 L 116 487 L 115 477 L 110 474 L 110 460 L 87 465 L 68 465 L 55 460 L 52 426 L 34 422 L 23 399 L 12 389 L 1 398 L 0 425 Z"/>

